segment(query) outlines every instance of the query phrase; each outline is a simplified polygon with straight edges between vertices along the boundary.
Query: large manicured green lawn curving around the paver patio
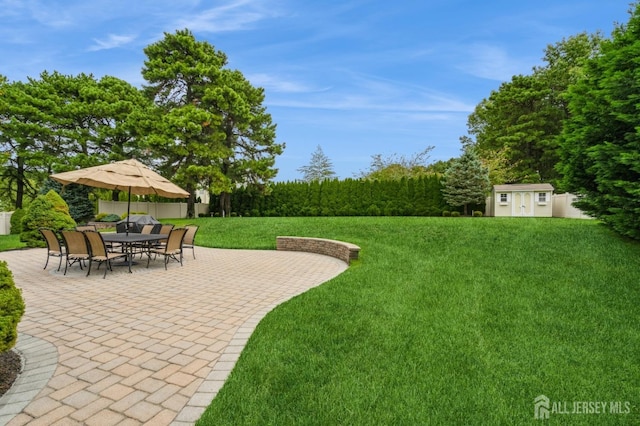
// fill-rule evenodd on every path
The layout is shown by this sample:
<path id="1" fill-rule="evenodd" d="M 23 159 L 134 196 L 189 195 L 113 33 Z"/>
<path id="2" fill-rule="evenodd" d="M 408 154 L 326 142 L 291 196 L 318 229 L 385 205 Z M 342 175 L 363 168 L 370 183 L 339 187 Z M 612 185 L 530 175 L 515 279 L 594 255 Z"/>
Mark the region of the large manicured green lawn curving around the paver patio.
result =
<path id="1" fill-rule="evenodd" d="M 640 245 L 593 221 L 198 219 L 197 242 L 361 246 L 260 323 L 201 425 L 525 424 L 534 398 L 628 401 L 640 420 Z M 555 417 L 554 417 L 555 416 Z M 596 417 L 594 417 L 596 416 Z"/>

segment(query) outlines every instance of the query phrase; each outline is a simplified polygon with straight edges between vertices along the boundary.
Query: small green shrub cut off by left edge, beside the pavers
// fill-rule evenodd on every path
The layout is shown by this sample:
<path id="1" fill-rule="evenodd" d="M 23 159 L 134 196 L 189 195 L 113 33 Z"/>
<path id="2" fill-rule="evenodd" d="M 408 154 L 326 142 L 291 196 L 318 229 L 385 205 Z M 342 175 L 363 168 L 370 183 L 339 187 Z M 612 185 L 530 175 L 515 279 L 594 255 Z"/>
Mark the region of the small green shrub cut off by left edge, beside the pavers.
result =
<path id="1" fill-rule="evenodd" d="M 7 262 L 0 261 L 0 352 L 16 344 L 18 323 L 23 314 L 22 292 L 15 286 Z"/>

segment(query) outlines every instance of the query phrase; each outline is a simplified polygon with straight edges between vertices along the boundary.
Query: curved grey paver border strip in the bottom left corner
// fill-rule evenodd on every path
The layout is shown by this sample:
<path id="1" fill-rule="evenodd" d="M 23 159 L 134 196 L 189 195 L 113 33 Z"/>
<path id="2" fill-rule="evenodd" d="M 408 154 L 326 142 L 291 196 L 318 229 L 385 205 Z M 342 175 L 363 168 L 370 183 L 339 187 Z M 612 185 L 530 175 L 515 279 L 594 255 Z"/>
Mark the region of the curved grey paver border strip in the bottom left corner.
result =
<path id="1" fill-rule="evenodd" d="M 0 398 L 0 424 L 20 414 L 44 389 L 58 366 L 58 349 L 39 337 L 18 333 L 14 349 L 22 358 L 22 370 Z"/>

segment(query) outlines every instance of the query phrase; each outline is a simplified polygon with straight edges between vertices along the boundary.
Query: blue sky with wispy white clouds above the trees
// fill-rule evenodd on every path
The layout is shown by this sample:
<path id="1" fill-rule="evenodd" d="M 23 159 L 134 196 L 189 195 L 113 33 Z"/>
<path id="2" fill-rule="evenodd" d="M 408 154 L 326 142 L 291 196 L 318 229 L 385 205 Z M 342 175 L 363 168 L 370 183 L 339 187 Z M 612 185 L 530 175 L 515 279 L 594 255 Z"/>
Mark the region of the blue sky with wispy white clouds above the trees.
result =
<path id="1" fill-rule="evenodd" d="M 140 86 L 143 48 L 188 28 L 254 86 L 286 143 L 276 180 L 320 146 L 340 178 L 371 156 L 460 153 L 474 107 L 545 47 L 609 36 L 630 0 L 0 0 L 0 74 L 112 75 Z"/>

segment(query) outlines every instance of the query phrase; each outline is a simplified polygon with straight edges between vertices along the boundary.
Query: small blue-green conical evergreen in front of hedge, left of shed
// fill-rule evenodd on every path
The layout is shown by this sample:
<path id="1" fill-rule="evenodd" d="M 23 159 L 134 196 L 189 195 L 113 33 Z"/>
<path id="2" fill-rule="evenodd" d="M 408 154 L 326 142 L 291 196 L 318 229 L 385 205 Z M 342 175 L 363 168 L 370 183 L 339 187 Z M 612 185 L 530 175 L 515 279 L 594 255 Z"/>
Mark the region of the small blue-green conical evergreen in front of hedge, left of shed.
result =
<path id="1" fill-rule="evenodd" d="M 484 204 L 490 187 L 489 171 L 475 150 L 466 147 L 443 176 L 442 196 L 451 207 L 464 206 L 466 216 L 469 204 Z"/>

